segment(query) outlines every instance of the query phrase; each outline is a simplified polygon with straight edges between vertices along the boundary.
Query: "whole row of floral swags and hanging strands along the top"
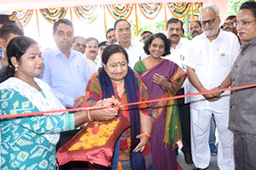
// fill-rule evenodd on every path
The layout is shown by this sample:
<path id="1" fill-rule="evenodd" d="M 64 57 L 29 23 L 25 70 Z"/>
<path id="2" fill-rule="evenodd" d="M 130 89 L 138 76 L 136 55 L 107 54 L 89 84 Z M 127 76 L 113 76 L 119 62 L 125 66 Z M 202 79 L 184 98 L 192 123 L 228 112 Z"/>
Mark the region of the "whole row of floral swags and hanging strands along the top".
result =
<path id="1" fill-rule="evenodd" d="M 148 20 L 154 20 L 154 18 L 160 13 L 162 9 L 163 3 L 128 3 L 128 4 L 108 4 L 108 5 L 101 5 L 104 9 L 104 27 L 105 31 L 107 31 L 107 21 L 106 21 L 106 9 L 108 9 L 109 14 L 115 19 L 125 19 L 127 20 L 131 13 L 134 11 L 136 13 L 136 22 L 138 20 L 137 16 L 137 6 L 140 8 L 143 16 Z M 174 17 L 183 18 L 189 12 L 192 15 L 194 13 L 200 13 L 200 9 L 202 8 L 202 3 L 164 3 L 165 5 L 165 22 L 166 22 L 166 5 L 169 8 L 170 12 Z M 195 6 L 195 8 L 194 8 Z M 135 7 L 135 8 L 134 8 Z M 90 24 L 96 20 L 97 14 L 97 5 L 84 5 L 79 7 L 69 7 L 70 17 L 73 21 L 73 12 L 79 18 L 79 20 Z M 40 13 L 43 15 L 44 19 L 49 21 L 49 23 L 55 23 L 56 20 L 65 18 L 67 14 L 67 8 L 41 8 L 38 9 Z M 133 10 L 134 9 L 134 10 Z M 27 26 L 29 21 L 32 19 L 32 14 L 34 9 L 32 10 L 18 10 L 17 12 L 20 13 L 21 17 L 17 20 L 20 20 L 24 26 Z M 38 19 L 38 14 L 36 14 Z M 137 26 L 137 24 L 136 24 Z M 138 26 L 137 26 L 138 27 Z M 138 31 L 138 28 L 136 28 Z M 38 34 L 40 34 L 38 32 Z"/>

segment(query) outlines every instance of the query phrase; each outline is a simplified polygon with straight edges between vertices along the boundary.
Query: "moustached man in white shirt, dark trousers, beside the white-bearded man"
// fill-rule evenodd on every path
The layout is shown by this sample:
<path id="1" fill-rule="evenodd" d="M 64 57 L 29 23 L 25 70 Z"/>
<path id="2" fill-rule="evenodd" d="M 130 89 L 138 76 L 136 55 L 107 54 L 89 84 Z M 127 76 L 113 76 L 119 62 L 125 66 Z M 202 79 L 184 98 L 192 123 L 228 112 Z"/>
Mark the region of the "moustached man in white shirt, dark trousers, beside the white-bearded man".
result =
<path id="1" fill-rule="evenodd" d="M 166 59 L 172 60 L 172 62 L 179 65 L 184 71 L 186 67 L 183 65 L 183 60 L 187 55 L 187 49 L 189 48 L 189 40 L 182 37 L 183 36 L 183 21 L 177 18 L 172 18 L 167 21 L 166 24 L 166 35 L 171 40 L 171 54 L 166 56 Z M 189 91 L 187 89 L 188 80 L 183 83 L 183 88 L 181 88 L 177 95 L 187 94 Z M 184 89 L 185 88 L 185 89 Z M 177 99 L 178 112 L 180 116 L 180 122 L 183 133 L 183 154 L 186 163 L 192 164 L 191 157 L 191 144 L 190 144 L 190 113 L 189 104 L 184 99 Z"/>

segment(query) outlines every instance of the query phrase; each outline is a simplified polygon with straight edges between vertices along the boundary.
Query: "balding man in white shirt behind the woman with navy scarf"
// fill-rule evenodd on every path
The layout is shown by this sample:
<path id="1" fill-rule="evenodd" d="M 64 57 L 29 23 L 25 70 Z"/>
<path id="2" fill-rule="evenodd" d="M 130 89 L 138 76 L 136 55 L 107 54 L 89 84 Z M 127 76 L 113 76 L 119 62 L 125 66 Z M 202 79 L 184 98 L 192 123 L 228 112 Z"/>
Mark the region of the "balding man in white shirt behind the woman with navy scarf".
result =
<path id="1" fill-rule="evenodd" d="M 116 43 L 125 48 L 128 54 L 129 66 L 133 69 L 138 60 L 147 57 L 143 49 L 143 42 L 131 40 L 131 24 L 127 20 L 116 20 L 113 28 L 118 39 Z"/>

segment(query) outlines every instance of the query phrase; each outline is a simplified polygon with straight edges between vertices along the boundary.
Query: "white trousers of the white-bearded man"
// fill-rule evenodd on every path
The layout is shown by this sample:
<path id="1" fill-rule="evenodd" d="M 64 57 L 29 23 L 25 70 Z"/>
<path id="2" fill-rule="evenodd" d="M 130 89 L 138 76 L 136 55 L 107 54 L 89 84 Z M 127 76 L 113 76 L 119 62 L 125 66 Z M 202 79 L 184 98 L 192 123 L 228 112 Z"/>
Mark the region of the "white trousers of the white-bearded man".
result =
<path id="1" fill-rule="evenodd" d="M 235 169 L 233 133 L 228 129 L 229 111 L 218 113 L 190 108 L 191 153 L 195 167 L 206 168 L 211 161 L 209 133 L 212 114 L 218 129 L 218 167 L 221 170 Z"/>

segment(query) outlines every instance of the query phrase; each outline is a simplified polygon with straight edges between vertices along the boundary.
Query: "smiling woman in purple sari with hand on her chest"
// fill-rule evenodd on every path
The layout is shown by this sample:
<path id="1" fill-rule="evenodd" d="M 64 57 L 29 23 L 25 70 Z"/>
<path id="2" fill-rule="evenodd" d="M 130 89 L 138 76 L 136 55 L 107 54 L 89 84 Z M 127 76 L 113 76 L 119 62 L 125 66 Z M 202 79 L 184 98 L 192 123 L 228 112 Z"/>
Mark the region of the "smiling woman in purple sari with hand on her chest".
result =
<path id="1" fill-rule="evenodd" d="M 182 86 L 185 72 L 162 56 L 170 54 L 170 42 L 162 33 L 154 34 L 145 42 L 148 58 L 138 61 L 134 67 L 148 88 L 149 99 L 171 97 Z M 150 139 L 154 169 L 177 169 L 173 146 L 182 139 L 177 100 L 155 102 Z"/>

